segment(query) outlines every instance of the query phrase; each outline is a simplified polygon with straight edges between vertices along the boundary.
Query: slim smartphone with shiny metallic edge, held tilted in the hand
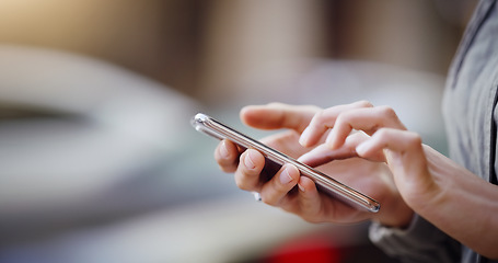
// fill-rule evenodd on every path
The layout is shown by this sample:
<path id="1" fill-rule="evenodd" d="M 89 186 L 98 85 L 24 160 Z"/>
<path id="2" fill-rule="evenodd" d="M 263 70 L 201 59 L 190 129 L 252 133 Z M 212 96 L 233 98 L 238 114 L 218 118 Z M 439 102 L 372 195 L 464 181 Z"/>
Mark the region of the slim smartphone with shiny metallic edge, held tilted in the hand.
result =
<path id="1" fill-rule="evenodd" d="M 247 149 L 255 149 L 262 152 L 267 160 L 270 160 L 279 165 L 283 165 L 285 163 L 296 165 L 302 175 L 313 180 L 319 191 L 327 193 L 333 197 L 337 197 L 348 205 L 367 209 L 372 213 L 379 211 L 381 207 L 380 204 L 373 198 L 338 182 L 337 180 L 311 168 L 310 165 L 299 162 L 298 160 L 222 124 L 206 114 L 196 114 L 192 118 L 190 123 L 198 132 L 202 132 L 220 140 L 229 139 Z"/>

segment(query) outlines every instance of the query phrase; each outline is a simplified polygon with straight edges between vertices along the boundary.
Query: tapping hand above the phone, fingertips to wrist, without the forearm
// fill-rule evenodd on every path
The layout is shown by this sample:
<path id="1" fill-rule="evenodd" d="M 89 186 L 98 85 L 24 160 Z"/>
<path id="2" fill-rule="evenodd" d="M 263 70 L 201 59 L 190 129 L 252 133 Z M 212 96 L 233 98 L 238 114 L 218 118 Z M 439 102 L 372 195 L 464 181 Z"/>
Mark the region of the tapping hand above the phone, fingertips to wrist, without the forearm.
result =
<path id="1" fill-rule="evenodd" d="M 351 134 L 354 130 L 362 132 L 363 136 L 358 136 L 358 132 Z M 373 107 L 369 102 L 361 101 L 326 108 L 315 114 L 302 134 L 300 144 L 306 147 L 316 146 L 328 132 L 331 133 L 325 142 L 300 160 L 314 164 L 325 163 L 333 160 L 331 152 L 346 148 L 362 158 L 387 163 L 396 175 L 394 180 L 405 201 L 417 202 L 420 191 L 427 192 L 433 187 L 431 178 L 427 176 L 420 137 L 407 132 L 391 107 Z M 351 139 L 354 137 L 355 139 Z"/>

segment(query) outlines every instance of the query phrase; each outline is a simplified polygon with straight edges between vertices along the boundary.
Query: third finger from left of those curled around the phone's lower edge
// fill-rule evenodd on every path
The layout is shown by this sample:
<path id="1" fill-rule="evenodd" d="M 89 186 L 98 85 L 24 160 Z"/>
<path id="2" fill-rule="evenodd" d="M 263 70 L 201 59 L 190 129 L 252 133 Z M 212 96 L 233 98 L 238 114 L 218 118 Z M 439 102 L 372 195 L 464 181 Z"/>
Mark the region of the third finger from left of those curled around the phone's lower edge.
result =
<path id="1" fill-rule="evenodd" d="M 262 201 L 271 206 L 278 206 L 289 192 L 298 184 L 299 170 L 292 164 L 285 164 L 280 171 L 263 185 Z"/>

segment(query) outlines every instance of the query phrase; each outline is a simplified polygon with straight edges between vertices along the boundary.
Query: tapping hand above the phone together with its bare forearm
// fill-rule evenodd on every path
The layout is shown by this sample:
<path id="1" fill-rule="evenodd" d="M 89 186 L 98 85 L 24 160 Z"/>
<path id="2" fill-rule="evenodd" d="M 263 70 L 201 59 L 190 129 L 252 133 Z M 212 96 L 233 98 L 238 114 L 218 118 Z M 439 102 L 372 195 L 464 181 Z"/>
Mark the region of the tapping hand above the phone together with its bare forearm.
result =
<path id="1" fill-rule="evenodd" d="M 368 102 L 326 108 L 315 114 L 300 142 L 320 145 L 301 157 L 310 163 L 326 163 L 344 149 L 386 163 L 410 208 L 476 252 L 498 258 L 498 187 L 422 145 L 392 108 Z"/>

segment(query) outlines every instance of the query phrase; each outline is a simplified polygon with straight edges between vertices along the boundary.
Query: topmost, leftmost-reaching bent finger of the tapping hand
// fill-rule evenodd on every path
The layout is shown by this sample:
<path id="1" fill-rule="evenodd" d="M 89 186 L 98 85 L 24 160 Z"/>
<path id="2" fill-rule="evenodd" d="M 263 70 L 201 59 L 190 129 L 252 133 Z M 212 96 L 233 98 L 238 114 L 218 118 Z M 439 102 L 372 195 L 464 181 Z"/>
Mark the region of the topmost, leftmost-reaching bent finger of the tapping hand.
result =
<path id="1" fill-rule="evenodd" d="M 340 113 L 354 108 L 372 107 L 373 105 L 367 101 L 359 101 L 351 104 L 333 106 L 317 112 L 310 125 L 304 129 L 299 142 L 304 147 L 316 145 L 322 136 L 331 128 L 334 127 L 337 116 Z"/>

